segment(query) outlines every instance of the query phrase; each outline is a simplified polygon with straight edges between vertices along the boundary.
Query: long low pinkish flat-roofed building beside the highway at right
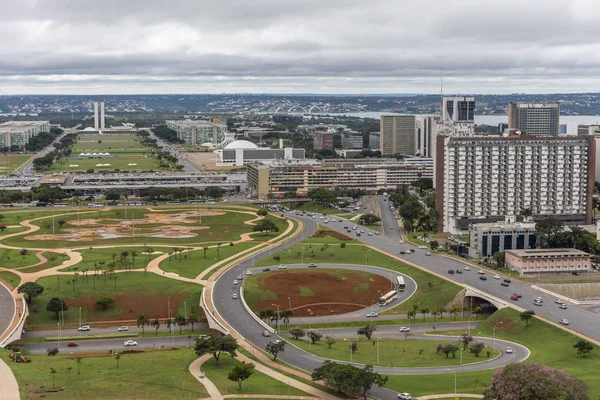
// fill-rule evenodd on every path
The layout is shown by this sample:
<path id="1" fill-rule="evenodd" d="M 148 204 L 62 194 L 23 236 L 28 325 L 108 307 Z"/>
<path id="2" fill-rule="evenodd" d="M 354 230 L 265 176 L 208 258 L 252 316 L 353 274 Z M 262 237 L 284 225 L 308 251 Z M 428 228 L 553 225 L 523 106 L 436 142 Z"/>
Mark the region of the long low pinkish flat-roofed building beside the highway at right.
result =
<path id="1" fill-rule="evenodd" d="M 591 255 L 577 249 L 507 250 L 505 263 L 519 275 L 588 271 Z"/>

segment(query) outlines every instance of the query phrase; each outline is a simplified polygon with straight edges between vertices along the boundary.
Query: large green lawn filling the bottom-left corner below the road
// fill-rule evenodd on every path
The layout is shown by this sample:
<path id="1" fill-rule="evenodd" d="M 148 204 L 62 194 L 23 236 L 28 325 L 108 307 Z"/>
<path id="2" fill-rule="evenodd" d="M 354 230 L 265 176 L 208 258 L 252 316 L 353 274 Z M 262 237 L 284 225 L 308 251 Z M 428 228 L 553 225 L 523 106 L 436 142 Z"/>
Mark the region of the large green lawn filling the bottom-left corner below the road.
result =
<path id="1" fill-rule="evenodd" d="M 204 386 L 188 371 L 188 365 L 196 358 L 193 350 L 177 349 L 122 354 L 119 368 L 114 356 L 83 357 L 78 365 L 74 356 L 59 354 L 29 356 L 31 363 L 13 363 L 8 351 L 0 355 L 13 370 L 21 391 L 27 390 L 22 398 L 39 398 L 34 390 L 52 388 L 54 368 L 55 386 L 64 387 L 62 392 L 49 393 L 50 399 L 198 399 L 208 397 Z M 135 391 L 135 397 L 134 397 Z"/>

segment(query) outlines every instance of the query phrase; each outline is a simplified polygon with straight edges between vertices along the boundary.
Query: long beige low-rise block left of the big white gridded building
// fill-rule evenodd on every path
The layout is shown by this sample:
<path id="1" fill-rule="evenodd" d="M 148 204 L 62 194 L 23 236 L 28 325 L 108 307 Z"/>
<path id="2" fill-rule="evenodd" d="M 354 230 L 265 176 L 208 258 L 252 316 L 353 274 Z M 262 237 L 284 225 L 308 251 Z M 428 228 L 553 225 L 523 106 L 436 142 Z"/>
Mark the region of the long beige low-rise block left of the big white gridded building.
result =
<path id="1" fill-rule="evenodd" d="M 283 160 L 247 165 L 248 194 L 259 199 L 314 188 L 364 189 L 375 193 L 433 177 L 431 159 Z"/>

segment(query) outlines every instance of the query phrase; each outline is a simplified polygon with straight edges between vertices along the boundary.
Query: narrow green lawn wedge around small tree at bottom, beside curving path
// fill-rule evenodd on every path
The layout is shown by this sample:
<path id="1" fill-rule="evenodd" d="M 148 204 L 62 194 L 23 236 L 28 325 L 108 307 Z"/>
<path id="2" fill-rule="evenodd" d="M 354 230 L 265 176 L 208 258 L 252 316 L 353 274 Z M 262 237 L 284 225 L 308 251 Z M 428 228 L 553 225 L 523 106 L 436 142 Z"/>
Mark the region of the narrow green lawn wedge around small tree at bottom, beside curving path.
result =
<path id="1" fill-rule="evenodd" d="M 238 362 L 229 355 L 222 355 L 219 360 L 221 365 L 217 365 L 214 359 L 209 359 L 202 364 L 204 375 L 210 379 L 219 389 L 221 394 L 269 394 L 269 395 L 287 395 L 291 396 L 309 396 L 307 393 L 276 379 L 255 371 L 252 376 L 242 383 L 242 390 L 238 389 L 236 382 L 227 379 L 227 374 Z"/>

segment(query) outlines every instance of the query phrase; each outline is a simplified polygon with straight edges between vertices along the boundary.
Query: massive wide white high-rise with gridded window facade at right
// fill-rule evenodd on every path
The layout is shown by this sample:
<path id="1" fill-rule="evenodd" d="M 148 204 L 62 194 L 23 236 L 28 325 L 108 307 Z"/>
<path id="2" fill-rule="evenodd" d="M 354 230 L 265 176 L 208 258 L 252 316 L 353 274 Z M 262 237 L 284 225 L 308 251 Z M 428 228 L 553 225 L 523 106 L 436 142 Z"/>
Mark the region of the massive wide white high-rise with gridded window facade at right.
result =
<path id="1" fill-rule="evenodd" d="M 566 224 L 590 224 L 592 136 L 438 136 L 438 229 L 466 231 L 531 209 Z"/>

